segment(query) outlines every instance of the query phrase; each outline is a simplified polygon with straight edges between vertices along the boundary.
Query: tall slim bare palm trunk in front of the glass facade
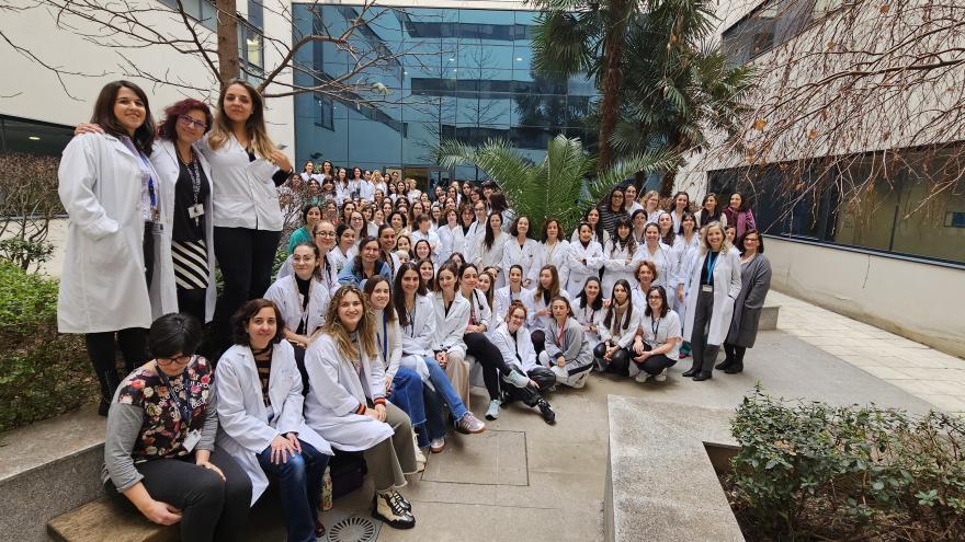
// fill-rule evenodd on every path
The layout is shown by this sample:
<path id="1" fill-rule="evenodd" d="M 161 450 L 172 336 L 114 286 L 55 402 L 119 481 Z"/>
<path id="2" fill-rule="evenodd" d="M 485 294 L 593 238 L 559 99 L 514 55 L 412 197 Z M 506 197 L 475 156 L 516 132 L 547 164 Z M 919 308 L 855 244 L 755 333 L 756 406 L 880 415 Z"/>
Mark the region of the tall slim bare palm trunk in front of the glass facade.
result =
<path id="1" fill-rule="evenodd" d="M 628 0 L 613 0 L 610 3 L 610 24 L 603 38 L 606 55 L 606 71 L 603 76 L 603 100 L 600 102 L 600 141 L 597 154 L 597 171 L 606 171 L 613 162 L 610 136 L 620 115 L 620 91 L 623 87 L 623 49 L 626 38 Z"/>

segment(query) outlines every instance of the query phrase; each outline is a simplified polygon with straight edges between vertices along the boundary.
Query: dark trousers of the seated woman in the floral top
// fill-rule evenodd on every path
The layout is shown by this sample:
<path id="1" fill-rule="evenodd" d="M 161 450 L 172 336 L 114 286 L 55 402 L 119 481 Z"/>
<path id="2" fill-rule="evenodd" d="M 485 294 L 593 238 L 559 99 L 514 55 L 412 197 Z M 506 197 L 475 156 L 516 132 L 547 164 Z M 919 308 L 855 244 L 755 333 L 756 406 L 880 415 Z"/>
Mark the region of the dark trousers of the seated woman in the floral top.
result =
<path id="1" fill-rule="evenodd" d="M 147 493 L 155 500 L 181 510 L 182 542 L 231 542 L 241 540 L 251 505 L 248 474 L 224 450 L 212 452 L 211 462 L 225 473 L 194 464 L 194 454 L 185 459 L 158 459 L 136 465 Z M 134 508 L 109 480 L 104 491 L 115 501 Z"/>

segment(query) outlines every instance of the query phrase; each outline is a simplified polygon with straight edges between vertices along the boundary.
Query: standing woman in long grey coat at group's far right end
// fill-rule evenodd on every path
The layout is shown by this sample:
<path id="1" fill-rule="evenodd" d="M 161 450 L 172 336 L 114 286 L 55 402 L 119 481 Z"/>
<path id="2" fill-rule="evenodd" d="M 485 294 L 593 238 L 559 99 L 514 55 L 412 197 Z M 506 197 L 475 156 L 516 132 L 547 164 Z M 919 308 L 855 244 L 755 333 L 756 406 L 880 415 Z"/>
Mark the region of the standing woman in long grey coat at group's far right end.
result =
<path id="1" fill-rule="evenodd" d="M 771 263 L 764 257 L 761 233 L 754 229 L 747 230 L 740 243 L 740 293 L 734 301 L 730 332 L 724 342 L 727 358 L 716 366 L 727 374 L 743 371 L 743 354 L 748 348 L 753 348 L 764 298 L 771 289 Z"/>

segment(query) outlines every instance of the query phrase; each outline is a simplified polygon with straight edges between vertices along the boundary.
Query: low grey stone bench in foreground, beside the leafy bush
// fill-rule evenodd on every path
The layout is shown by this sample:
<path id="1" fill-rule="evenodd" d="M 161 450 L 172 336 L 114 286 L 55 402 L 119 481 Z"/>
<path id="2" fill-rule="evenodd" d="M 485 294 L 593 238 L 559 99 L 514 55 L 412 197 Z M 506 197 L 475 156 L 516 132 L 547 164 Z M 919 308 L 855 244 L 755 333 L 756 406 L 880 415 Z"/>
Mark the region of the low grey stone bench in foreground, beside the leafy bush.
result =
<path id="1" fill-rule="evenodd" d="M 735 447 L 733 410 L 620 395 L 608 408 L 608 542 L 743 541 L 717 478 Z"/>

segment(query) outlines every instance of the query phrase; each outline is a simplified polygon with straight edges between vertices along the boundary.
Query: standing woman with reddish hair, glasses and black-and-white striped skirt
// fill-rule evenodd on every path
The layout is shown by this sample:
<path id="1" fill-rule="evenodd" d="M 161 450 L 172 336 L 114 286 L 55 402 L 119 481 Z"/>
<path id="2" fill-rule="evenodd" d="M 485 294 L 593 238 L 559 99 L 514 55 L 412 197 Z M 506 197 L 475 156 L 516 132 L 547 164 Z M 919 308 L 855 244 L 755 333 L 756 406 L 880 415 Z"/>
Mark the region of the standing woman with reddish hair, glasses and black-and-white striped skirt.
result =
<path id="1" fill-rule="evenodd" d="M 174 205 L 163 206 L 161 235 L 170 239 L 161 244 L 159 257 L 173 258 L 178 312 L 211 322 L 217 299 L 212 177 L 195 143 L 211 128 L 212 114 L 205 103 L 186 99 L 164 109 L 164 117 L 151 164 L 163 181 L 161 200 Z M 166 254 L 168 242 L 171 249 Z"/>

